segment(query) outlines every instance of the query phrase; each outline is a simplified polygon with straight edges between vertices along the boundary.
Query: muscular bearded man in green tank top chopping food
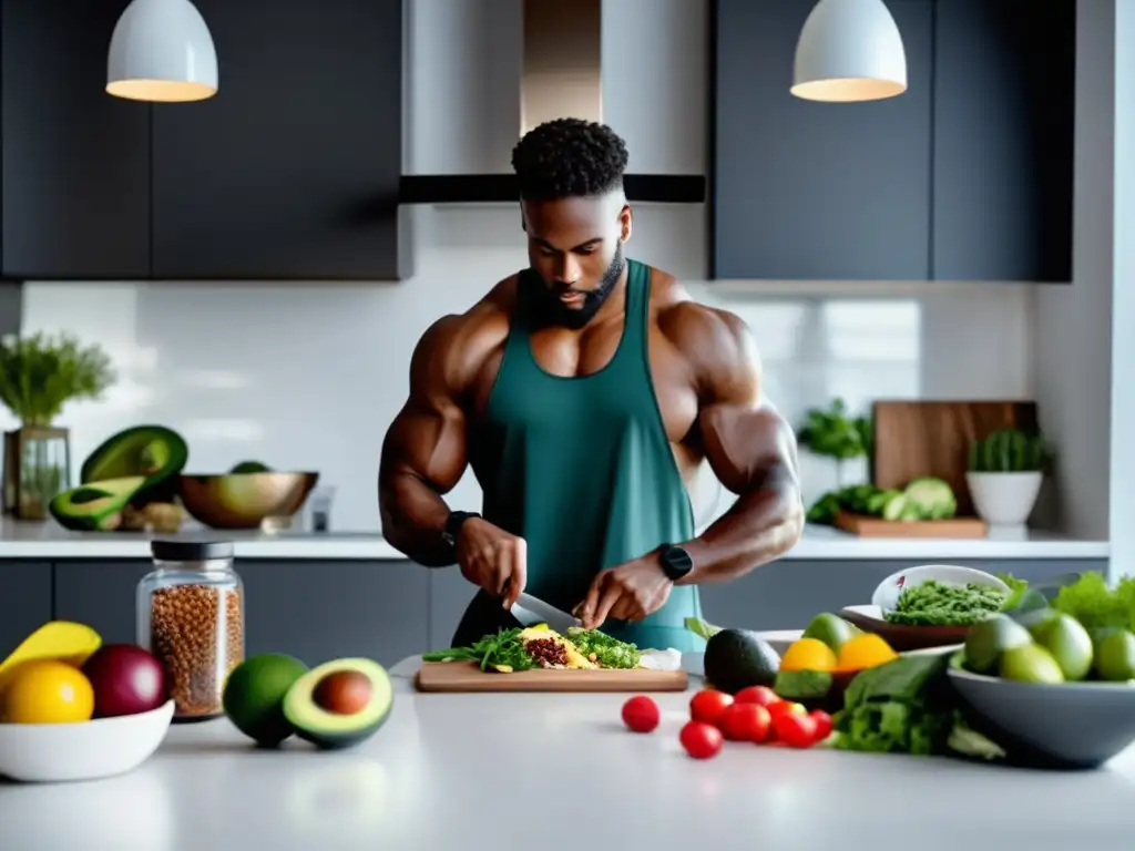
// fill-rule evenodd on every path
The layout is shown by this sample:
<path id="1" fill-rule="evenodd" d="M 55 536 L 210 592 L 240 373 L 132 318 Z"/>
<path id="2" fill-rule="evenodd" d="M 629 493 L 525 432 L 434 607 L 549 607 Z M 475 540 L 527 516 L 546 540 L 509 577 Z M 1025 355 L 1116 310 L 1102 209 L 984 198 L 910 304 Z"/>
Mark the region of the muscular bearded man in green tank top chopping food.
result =
<path id="1" fill-rule="evenodd" d="M 759 405 L 741 320 L 625 256 L 619 136 L 558 119 L 512 161 L 530 267 L 418 344 L 382 446 L 384 534 L 480 587 L 455 646 L 515 626 L 528 591 L 640 648 L 699 649 L 698 585 L 800 537 L 792 432 Z M 695 537 L 687 483 L 706 462 L 739 498 Z M 443 498 L 466 464 L 482 515 Z"/>

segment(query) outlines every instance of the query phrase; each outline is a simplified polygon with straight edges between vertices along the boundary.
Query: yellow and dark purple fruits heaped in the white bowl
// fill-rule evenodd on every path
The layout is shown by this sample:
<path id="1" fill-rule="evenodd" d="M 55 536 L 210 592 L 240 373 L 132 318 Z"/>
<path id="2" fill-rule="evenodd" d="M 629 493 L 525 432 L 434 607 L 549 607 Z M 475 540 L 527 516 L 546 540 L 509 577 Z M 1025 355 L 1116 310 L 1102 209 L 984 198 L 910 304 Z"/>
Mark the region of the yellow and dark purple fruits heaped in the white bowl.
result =
<path id="1" fill-rule="evenodd" d="M 77 724 L 138 715 L 169 699 L 166 672 L 134 644 L 103 644 L 90 626 L 51 621 L 0 663 L 0 722 Z"/>

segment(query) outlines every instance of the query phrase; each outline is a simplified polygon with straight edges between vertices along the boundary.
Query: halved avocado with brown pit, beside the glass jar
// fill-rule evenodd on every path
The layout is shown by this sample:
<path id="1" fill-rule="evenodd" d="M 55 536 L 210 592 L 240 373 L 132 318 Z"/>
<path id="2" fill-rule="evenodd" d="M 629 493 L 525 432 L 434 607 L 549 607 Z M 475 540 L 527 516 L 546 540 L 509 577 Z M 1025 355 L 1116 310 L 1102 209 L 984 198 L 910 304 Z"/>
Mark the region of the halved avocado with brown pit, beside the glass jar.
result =
<path id="1" fill-rule="evenodd" d="M 351 748 L 378 732 L 394 707 L 386 668 L 371 659 L 334 659 L 301 676 L 284 696 L 295 734 L 323 750 Z"/>

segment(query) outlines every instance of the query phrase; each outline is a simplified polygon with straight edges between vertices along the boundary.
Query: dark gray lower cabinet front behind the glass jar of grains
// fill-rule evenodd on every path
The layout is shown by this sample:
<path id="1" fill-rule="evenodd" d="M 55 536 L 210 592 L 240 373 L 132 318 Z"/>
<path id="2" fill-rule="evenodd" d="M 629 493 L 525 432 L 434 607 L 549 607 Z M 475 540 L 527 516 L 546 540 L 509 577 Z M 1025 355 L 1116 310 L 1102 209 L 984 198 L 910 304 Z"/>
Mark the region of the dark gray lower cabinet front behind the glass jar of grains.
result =
<path id="1" fill-rule="evenodd" d="M 136 641 L 135 589 L 150 570 L 142 561 L 60 562 L 54 615 L 90 624 L 107 642 Z M 411 562 L 241 561 L 236 570 L 249 655 L 285 652 L 309 665 L 365 656 L 392 666 L 427 644 L 429 572 Z"/>

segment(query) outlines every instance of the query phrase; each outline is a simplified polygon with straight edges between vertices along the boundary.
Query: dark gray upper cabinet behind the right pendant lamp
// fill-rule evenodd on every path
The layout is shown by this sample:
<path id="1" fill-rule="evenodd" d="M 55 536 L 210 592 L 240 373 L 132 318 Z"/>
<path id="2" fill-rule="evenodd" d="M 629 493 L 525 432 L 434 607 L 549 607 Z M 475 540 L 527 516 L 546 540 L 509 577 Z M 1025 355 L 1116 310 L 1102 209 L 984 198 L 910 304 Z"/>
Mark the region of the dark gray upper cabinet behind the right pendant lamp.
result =
<path id="1" fill-rule="evenodd" d="M 712 276 L 1070 280 L 1075 0 L 886 3 L 907 91 L 814 103 L 815 0 L 715 0 Z"/>

